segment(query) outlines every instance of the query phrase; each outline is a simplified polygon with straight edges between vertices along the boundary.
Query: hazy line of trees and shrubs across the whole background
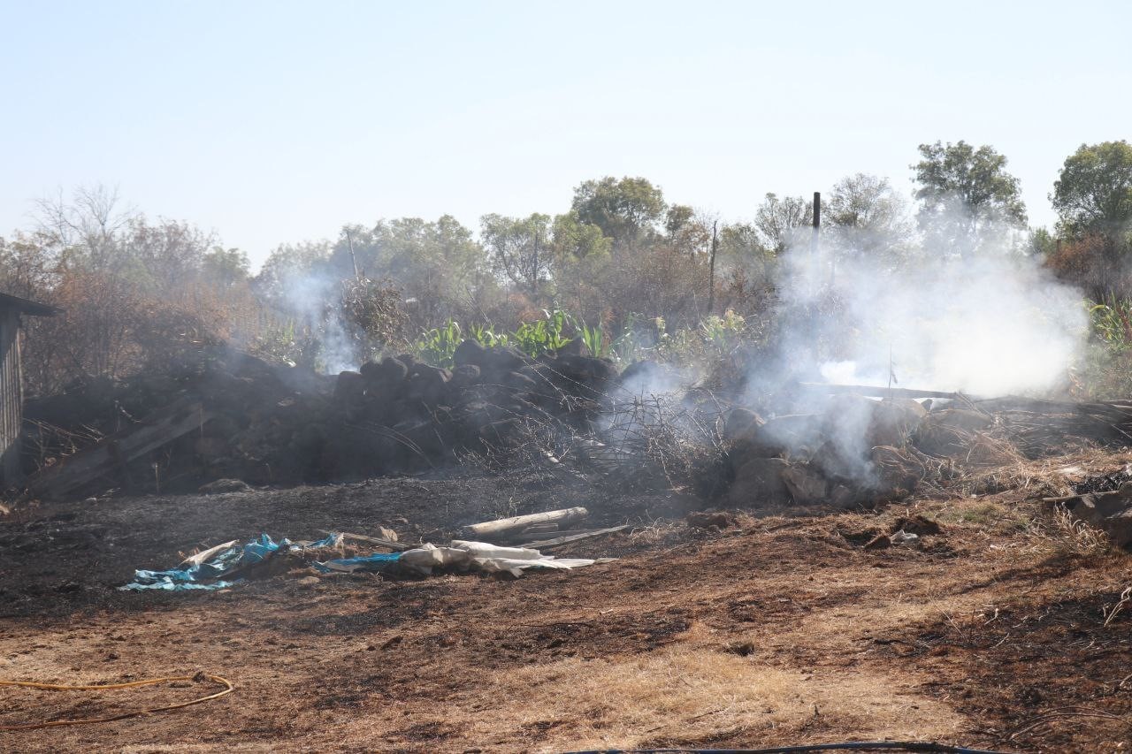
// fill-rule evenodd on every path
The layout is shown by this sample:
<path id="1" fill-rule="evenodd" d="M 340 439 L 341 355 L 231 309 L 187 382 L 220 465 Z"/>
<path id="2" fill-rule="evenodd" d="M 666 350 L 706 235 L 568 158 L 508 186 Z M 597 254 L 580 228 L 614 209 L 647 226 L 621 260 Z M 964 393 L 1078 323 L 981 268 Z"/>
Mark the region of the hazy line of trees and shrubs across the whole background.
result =
<path id="1" fill-rule="evenodd" d="M 1028 228 L 1019 180 L 990 146 L 924 144 L 910 169 L 910 200 L 867 173 L 824 191 L 822 243 L 880 266 L 1039 255 L 1094 300 L 1132 294 L 1127 142 L 1065 158 L 1052 229 Z M 212 234 L 80 189 L 0 238 L 0 290 L 65 310 L 27 339 L 29 385 L 53 392 L 211 342 L 315 366 L 328 323 L 362 358 L 449 320 L 509 327 L 550 308 L 610 334 L 642 318 L 771 317 L 779 265 L 807 242 L 812 212 L 808 197 L 767 194 L 749 220 L 726 222 L 645 178 L 603 177 L 575 187 L 559 214 L 491 213 L 474 230 L 448 215 L 346 224 L 332 240 L 281 245 L 252 275 L 247 255 Z"/>

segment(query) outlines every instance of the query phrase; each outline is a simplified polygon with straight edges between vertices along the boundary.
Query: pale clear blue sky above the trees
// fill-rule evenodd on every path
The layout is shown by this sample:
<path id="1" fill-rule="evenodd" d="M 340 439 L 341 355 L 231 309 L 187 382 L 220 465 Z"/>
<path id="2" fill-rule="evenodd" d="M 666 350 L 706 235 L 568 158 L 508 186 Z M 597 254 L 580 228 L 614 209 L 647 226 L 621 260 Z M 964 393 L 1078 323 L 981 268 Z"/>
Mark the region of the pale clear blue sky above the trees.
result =
<path id="1" fill-rule="evenodd" d="M 0 235 L 117 188 L 254 266 L 345 223 L 555 214 L 642 175 L 724 221 L 927 142 L 989 144 L 1032 225 L 1132 138 L 1127 2 L 0 0 Z"/>

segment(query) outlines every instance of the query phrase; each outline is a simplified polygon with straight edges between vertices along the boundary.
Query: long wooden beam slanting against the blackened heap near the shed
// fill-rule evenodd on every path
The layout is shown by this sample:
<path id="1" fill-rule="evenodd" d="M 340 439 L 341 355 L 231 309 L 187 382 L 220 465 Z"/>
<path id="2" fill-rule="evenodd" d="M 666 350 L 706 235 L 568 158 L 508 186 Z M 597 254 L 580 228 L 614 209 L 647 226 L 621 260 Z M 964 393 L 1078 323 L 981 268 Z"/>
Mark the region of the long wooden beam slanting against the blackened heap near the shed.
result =
<path id="1" fill-rule="evenodd" d="M 40 470 L 28 480 L 27 494 L 58 499 L 100 477 L 121 472 L 126 463 L 200 429 L 213 415 L 191 396 L 174 401 L 137 425 Z"/>

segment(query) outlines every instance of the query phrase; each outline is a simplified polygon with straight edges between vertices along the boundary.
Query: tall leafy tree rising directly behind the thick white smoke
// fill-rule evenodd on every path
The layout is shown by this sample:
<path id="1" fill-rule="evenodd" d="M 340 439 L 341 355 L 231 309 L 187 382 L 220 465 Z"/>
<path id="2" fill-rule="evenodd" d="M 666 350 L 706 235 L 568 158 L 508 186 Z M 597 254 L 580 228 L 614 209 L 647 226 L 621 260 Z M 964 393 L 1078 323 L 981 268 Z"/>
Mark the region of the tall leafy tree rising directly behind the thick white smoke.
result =
<path id="1" fill-rule="evenodd" d="M 928 246 L 971 254 L 1026 225 L 1019 181 L 1006 157 L 966 142 L 921 144 L 916 171 L 917 220 Z"/>

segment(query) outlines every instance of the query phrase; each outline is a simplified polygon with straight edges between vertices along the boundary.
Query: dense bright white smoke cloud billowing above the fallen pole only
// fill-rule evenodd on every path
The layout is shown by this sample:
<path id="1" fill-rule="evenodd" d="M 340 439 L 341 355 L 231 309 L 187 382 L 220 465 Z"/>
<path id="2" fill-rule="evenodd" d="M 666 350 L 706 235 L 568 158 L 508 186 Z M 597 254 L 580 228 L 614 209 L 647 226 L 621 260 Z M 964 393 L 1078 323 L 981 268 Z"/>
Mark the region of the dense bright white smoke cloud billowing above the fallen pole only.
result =
<path id="1" fill-rule="evenodd" d="M 1020 252 L 1010 226 L 979 228 L 977 243 L 925 238 L 798 238 L 778 279 L 782 357 L 825 382 L 979 395 L 1063 386 L 1086 343 L 1082 293 Z M 869 252 L 881 248 L 902 251 Z"/>

